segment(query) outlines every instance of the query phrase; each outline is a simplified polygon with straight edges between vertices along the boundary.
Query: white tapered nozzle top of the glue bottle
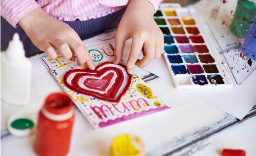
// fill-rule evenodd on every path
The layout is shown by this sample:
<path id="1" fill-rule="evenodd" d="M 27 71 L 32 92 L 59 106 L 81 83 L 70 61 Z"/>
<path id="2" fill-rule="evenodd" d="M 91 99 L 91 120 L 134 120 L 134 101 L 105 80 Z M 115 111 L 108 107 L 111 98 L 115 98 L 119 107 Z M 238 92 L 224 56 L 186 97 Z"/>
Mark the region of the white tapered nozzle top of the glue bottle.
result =
<path id="1" fill-rule="evenodd" d="M 9 46 L 5 52 L 7 57 L 10 59 L 25 57 L 25 50 L 23 49 L 23 44 L 20 41 L 18 33 L 14 33 L 13 38 L 9 42 Z"/>

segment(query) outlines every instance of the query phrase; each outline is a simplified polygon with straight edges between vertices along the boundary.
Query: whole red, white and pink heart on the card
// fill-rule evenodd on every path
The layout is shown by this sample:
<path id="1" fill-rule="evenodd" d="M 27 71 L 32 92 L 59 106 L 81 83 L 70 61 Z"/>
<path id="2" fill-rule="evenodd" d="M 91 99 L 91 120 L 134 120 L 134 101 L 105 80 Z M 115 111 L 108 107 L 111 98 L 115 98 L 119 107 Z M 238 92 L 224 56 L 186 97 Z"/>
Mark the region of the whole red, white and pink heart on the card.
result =
<path id="1" fill-rule="evenodd" d="M 89 68 L 71 70 L 66 73 L 63 81 L 69 89 L 78 93 L 109 102 L 119 102 L 132 81 L 132 75 L 125 68 L 125 65 L 105 62 L 94 71 Z"/>

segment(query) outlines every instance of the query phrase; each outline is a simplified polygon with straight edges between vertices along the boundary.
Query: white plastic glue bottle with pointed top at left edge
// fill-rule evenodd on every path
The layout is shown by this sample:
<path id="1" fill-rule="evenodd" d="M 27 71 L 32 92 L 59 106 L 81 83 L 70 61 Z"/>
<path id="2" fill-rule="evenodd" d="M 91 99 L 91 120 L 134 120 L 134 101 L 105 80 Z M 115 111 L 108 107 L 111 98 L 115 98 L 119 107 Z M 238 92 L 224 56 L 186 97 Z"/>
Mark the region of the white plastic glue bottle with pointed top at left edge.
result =
<path id="1" fill-rule="evenodd" d="M 14 33 L 6 51 L 1 52 L 1 99 L 14 105 L 28 104 L 31 67 L 19 34 Z"/>

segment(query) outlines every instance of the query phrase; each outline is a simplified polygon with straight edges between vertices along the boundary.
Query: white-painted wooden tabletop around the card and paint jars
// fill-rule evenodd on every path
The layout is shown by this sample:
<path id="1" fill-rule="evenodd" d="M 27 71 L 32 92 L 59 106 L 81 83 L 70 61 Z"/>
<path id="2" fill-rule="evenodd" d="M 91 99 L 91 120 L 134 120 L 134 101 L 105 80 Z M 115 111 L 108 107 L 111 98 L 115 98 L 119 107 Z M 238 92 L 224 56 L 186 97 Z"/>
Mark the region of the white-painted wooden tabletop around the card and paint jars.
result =
<path id="1" fill-rule="evenodd" d="M 5 123 L 14 113 L 36 117 L 47 94 L 62 91 L 39 60 L 44 55 L 29 58 L 33 63 L 30 103 L 18 107 L 1 101 L 1 155 L 35 155 L 35 135 L 14 137 L 7 132 Z M 191 94 L 174 89 L 171 81 L 139 68 L 135 72 L 171 109 L 101 129 L 93 129 L 76 110 L 69 155 L 107 155 L 112 138 L 120 133 L 140 136 L 147 155 L 219 155 L 223 148 L 241 148 L 247 155 L 255 155 L 256 108 L 243 121 L 238 121 Z"/>

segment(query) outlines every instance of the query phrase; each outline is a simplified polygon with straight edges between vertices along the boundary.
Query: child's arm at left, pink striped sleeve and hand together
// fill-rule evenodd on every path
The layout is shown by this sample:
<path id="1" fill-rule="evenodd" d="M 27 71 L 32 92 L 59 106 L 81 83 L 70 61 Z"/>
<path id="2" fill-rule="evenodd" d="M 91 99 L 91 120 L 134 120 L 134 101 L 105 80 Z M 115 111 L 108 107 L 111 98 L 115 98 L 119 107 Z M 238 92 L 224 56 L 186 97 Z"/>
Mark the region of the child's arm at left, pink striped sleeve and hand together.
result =
<path id="1" fill-rule="evenodd" d="M 94 70 L 93 61 L 78 34 L 68 24 L 45 13 L 35 0 L 1 0 L 1 15 L 13 27 L 19 24 L 34 45 L 56 58 L 58 49 L 67 59 L 77 56 L 77 64 L 87 64 Z"/>

